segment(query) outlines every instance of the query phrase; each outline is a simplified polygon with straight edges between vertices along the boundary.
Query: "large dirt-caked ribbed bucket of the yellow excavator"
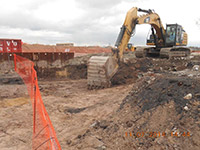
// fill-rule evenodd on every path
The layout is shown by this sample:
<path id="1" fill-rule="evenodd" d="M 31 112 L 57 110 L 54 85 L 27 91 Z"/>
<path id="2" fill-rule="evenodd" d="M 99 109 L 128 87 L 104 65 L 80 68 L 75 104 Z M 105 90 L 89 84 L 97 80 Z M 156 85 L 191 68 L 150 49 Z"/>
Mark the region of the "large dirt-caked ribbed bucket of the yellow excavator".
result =
<path id="1" fill-rule="evenodd" d="M 110 79 L 118 70 L 114 57 L 92 56 L 88 62 L 88 89 L 100 89 L 111 86 Z"/>

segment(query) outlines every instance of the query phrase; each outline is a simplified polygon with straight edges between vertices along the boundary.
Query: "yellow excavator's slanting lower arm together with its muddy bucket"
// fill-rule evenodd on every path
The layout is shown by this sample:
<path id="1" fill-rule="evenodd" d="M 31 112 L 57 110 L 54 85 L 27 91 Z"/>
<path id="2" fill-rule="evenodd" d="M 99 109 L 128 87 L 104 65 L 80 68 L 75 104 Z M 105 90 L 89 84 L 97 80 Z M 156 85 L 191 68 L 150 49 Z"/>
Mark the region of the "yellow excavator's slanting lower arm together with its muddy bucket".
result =
<path id="1" fill-rule="evenodd" d="M 119 62 L 122 61 L 123 51 L 131 38 L 137 20 L 137 8 L 127 12 L 126 19 L 116 41 L 116 48 L 112 49 L 112 56 L 92 56 L 88 62 L 88 89 L 107 88 L 111 86 L 110 79 L 117 72 Z M 131 23 L 130 23 L 131 22 Z"/>

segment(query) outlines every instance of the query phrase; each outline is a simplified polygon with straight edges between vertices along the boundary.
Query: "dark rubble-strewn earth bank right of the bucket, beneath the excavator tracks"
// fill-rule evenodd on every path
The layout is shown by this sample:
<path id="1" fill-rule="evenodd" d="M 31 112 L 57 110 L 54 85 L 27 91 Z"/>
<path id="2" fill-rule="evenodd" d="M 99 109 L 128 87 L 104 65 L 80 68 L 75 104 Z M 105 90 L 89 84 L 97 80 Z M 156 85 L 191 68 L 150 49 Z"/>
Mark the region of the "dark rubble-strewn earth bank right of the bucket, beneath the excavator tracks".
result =
<path id="1" fill-rule="evenodd" d="M 168 60 L 142 58 L 125 55 L 125 61 L 120 64 L 118 72 L 111 79 L 113 85 L 134 83 L 143 73 L 169 73 L 177 72 L 186 68 L 192 68 L 193 64 L 188 60 Z"/>

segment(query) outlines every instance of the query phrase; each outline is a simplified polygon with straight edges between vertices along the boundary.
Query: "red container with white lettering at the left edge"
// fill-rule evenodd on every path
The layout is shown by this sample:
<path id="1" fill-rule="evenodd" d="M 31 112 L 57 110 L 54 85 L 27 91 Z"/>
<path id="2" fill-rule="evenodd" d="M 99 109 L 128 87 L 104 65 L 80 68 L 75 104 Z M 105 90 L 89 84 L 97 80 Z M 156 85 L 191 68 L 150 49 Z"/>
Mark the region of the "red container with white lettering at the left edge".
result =
<path id="1" fill-rule="evenodd" d="M 0 39 L 0 53 L 22 52 L 22 41 L 20 39 Z"/>

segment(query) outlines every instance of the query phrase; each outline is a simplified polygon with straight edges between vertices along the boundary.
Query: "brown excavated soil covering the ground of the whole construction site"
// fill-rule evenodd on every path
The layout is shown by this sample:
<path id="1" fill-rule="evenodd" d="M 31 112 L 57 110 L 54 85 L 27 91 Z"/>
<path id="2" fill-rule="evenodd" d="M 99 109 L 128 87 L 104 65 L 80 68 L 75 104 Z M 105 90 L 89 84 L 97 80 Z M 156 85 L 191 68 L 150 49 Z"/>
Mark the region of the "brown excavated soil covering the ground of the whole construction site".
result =
<path id="1" fill-rule="evenodd" d="M 199 57 L 138 59 L 129 52 L 111 88 L 87 90 L 90 56 L 66 63 L 68 77 L 39 79 L 62 149 L 199 150 Z M 32 106 L 26 86 L 9 66 L 0 67 L 0 147 L 27 150 Z"/>

